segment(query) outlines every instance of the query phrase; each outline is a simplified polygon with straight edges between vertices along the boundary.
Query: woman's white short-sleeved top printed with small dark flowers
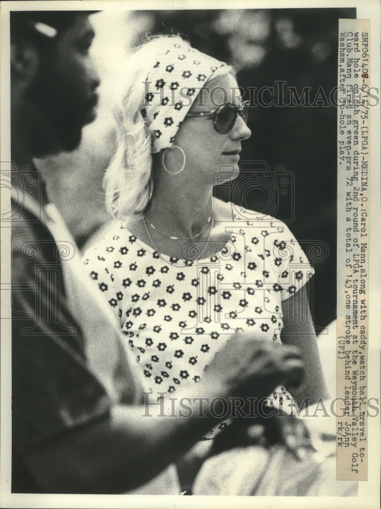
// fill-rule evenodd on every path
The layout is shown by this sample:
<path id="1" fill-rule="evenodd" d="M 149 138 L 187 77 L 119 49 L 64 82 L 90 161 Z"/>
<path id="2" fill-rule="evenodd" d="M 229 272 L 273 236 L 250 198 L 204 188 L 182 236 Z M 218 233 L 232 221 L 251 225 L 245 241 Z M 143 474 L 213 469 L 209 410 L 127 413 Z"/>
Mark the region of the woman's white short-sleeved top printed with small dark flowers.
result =
<path id="1" fill-rule="evenodd" d="M 86 251 L 86 270 L 118 316 L 146 390 L 197 383 L 235 331 L 280 343 L 282 300 L 313 268 L 286 225 L 274 221 L 233 223 L 228 260 L 221 250 L 193 263 L 159 255 L 123 224 Z M 269 404 L 282 399 L 284 409 L 289 393 L 275 392 Z"/>

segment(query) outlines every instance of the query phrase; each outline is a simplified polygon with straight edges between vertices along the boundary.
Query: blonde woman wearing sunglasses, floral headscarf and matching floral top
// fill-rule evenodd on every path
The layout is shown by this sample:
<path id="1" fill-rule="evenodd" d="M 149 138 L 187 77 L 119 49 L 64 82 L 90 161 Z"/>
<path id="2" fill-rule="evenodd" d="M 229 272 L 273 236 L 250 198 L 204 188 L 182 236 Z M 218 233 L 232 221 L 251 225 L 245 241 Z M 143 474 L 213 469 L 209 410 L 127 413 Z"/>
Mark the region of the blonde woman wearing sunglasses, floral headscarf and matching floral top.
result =
<path id="1" fill-rule="evenodd" d="M 297 345 L 294 392 L 325 397 L 305 284 L 313 273 L 288 228 L 213 197 L 239 172 L 251 135 L 235 71 L 178 36 L 130 59 L 116 116 L 106 204 L 118 219 L 84 263 L 120 320 L 144 387 L 163 397 L 197 383 L 232 333 Z M 267 405 L 292 413 L 278 387 Z"/>

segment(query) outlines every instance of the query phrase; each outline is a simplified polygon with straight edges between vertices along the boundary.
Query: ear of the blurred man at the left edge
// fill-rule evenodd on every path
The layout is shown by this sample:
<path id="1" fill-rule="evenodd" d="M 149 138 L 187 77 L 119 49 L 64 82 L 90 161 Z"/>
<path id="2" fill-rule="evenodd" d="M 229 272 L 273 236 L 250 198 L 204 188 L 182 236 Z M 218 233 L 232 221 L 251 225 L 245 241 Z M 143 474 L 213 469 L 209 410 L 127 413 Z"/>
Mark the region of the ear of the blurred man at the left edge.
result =
<path id="1" fill-rule="evenodd" d="M 39 53 L 34 44 L 22 35 L 11 38 L 11 73 L 29 80 L 37 71 Z"/>

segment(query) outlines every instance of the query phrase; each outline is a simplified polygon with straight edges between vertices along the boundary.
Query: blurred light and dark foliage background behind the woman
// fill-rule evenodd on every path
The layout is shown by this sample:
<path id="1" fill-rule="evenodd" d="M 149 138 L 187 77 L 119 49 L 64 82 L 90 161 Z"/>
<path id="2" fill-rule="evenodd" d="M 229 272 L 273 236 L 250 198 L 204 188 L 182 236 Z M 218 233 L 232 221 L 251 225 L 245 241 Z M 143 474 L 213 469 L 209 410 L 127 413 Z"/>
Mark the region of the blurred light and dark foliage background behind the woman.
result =
<path id="1" fill-rule="evenodd" d="M 289 103 L 288 87 L 295 87 L 299 95 L 310 87 L 312 103 L 320 87 L 329 98 L 337 86 L 338 19 L 355 17 L 356 9 L 338 8 L 104 11 L 93 15 L 96 38 L 92 52 L 102 78 L 98 118 L 84 129 L 78 150 L 37 162 L 46 173 L 52 200 L 79 245 L 109 220 L 103 206 L 102 178 L 115 147 L 111 111 L 115 83 L 121 79 L 129 52 L 146 35 L 183 34 L 193 47 L 235 65 L 239 86 L 245 91 L 248 87 L 276 89 L 276 81 L 285 81 L 283 103 Z M 271 99 L 266 93 L 263 98 Z M 266 161 L 271 173 L 282 165 L 292 174 L 293 188 L 286 186 L 287 195 L 279 195 L 269 212 L 286 221 L 307 253 L 313 252 L 309 248 L 316 242 L 329 247 L 314 261 L 311 308 L 318 331 L 336 318 L 337 108 L 324 103 L 323 99 L 314 107 L 251 107 L 252 136 L 241 154 L 242 161 Z M 257 175 L 255 163 L 250 164 L 237 188 L 244 187 L 244 179 L 253 182 L 250 174 Z M 272 178 L 279 184 L 278 177 Z M 236 193 L 233 199 L 249 209 L 266 210 L 268 190 L 261 188 L 260 178 L 256 182 L 259 184 L 253 184 L 249 192 Z M 232 198 L 226 187 L 216 189 L 216 195 Z"/>

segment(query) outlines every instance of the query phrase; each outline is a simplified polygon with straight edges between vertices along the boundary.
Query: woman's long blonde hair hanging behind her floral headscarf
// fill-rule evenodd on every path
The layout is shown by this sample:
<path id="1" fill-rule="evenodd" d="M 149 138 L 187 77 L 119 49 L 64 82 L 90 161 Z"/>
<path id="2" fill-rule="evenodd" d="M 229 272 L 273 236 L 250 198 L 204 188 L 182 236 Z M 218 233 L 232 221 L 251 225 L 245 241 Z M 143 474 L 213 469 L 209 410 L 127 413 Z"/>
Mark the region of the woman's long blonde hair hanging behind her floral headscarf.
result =
<path id="1" fill-rule="evenodd" d="M 155 36 L 130 56 L 126 75 L 121 79 L 122 101 L 114 108 L 117 147 L 106 170 L 103 187 L 107 211 L 115 218 L 126 219 L 141 214 L 148 205 L 152 191 L 151 132 L 140 108 L 146 94 L 143 83 L 156 62 L 163 41 L 180 36 Z M 232 71 L 224 66 L 206 81 Z"/>

